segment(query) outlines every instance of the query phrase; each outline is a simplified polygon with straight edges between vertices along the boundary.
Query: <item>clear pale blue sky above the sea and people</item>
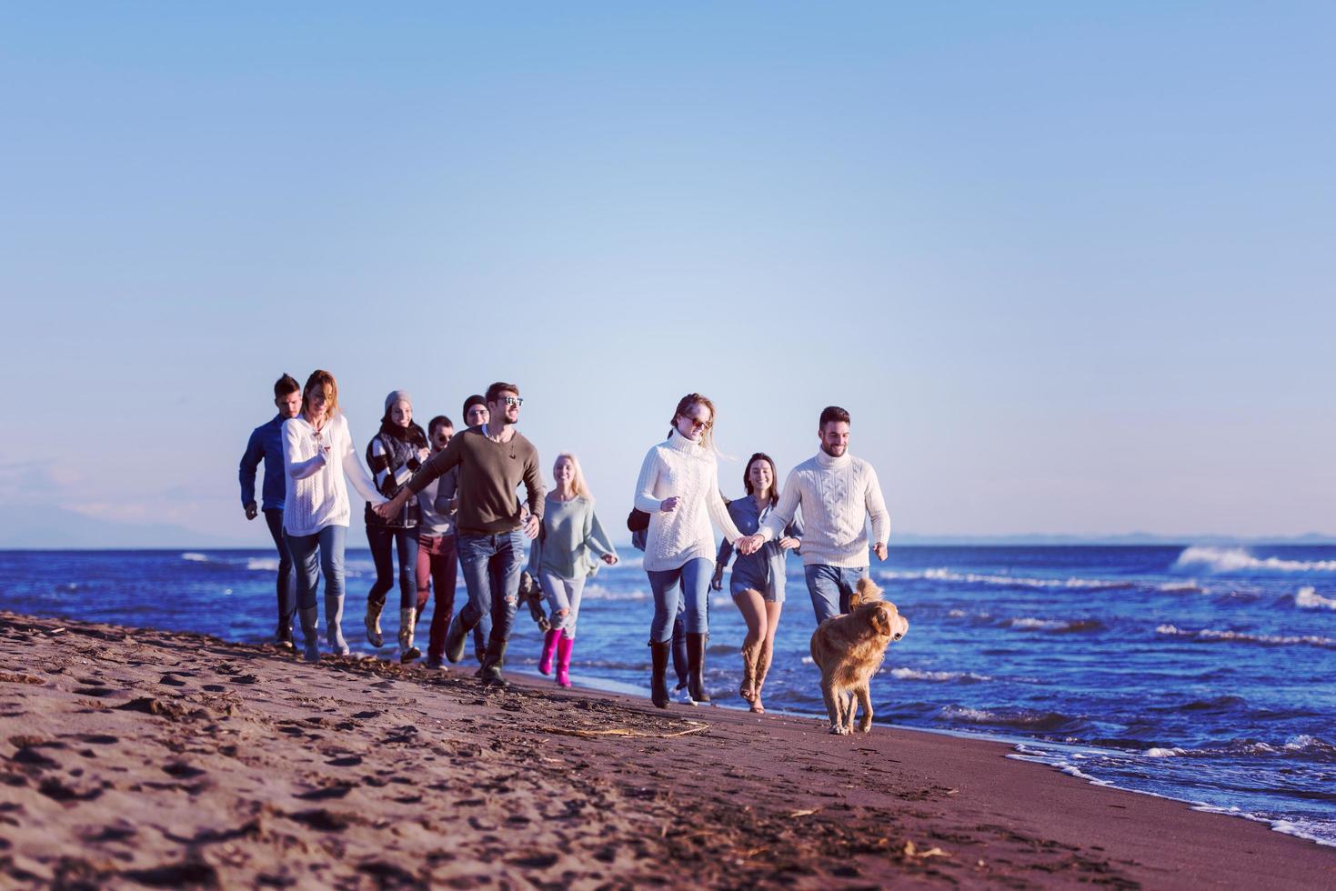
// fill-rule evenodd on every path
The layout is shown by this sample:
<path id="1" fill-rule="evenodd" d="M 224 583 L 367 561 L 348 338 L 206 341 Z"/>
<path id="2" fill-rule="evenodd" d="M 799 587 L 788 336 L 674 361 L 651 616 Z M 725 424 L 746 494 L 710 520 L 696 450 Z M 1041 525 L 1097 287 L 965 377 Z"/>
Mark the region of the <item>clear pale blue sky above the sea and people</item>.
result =
<path id="1" fill-rule="evenodd" d="M 263 545 L 236 460 L 314 367 L 359 441 L 518 382 L 613 525 L 699 390 L 782 468 L 850 409 L 899 532 L 1336 534 L 1333 25 L 7 5 L 0 542 Z"/>

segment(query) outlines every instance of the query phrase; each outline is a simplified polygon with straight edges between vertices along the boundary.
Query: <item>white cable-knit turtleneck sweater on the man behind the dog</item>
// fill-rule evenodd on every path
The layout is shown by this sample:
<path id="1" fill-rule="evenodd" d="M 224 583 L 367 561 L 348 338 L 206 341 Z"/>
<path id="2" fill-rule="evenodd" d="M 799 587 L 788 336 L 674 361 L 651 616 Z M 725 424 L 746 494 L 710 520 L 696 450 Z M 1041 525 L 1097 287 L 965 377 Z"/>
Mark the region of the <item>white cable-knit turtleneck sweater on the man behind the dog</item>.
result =
<path id="1" fill-rule="evenodd" d="M 867 565 L 867 518 L 872 518 L 872 540 L 884 545 L 891 534 L 891 517 L 886 512 L 882 486 L 872 465 L 847 452 L 832 458 L 818 452 L 788 473 L 760 534 L 766 541 L 778 538 L 803 508 L 803 565 Z"/>

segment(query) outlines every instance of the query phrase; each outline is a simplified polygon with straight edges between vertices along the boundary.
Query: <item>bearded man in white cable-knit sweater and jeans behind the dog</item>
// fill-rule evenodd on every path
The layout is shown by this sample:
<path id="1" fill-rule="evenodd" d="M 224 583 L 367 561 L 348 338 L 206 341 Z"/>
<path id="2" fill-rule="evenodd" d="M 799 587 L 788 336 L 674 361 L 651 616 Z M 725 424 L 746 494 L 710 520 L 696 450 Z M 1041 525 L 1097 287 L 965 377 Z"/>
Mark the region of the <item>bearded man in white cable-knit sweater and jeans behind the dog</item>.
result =
<path id="1" fill-rule="evenodd" d="M 872 465 L 848 454 L 848 411 L 827 407 L 816 435 L 820 452 L 790 472 L 759 534 L 766 541 L 780 537 L 802 506 L 803 573 L 820 624 L 847 613 L 854 586 L 867 577 L 868 517 L 878 560 L 886 560 L 891 520 Z"/>

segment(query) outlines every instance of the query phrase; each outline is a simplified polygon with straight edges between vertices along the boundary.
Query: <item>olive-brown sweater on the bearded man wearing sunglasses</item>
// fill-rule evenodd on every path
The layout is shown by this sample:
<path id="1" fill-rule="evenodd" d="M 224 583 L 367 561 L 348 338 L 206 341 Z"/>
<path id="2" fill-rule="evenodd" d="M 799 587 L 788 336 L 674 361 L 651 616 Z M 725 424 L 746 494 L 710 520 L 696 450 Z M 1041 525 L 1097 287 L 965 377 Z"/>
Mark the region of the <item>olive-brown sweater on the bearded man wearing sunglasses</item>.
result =
<path id="1" fill-rule="evenodd" d="M 460 468 L 457 528 L 461 533 L 494 536 L 518 529 L 524 513 L 516 488 L 521 482 L 528 494 L 529 513 L 542 520 L 538 450 L 518 431 L 509 442 L 496 442 L 481 427 L 469 427 L 428 458 L 409 480 L 409 492 L 415 496 L 456 466 Z"/>

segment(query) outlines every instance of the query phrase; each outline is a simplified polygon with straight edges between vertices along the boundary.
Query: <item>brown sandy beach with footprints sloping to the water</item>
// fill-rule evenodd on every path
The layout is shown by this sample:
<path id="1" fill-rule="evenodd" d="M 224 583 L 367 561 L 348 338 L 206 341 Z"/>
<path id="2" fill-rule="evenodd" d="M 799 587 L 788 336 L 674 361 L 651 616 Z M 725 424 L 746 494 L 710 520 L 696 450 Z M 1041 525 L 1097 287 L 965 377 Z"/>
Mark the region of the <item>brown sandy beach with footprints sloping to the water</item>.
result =
<path id="1" fill-rule="evenodd" d="M 1336 887 L 1336 850 L 876 727 L 0 613 L 0 884 Z"/>

